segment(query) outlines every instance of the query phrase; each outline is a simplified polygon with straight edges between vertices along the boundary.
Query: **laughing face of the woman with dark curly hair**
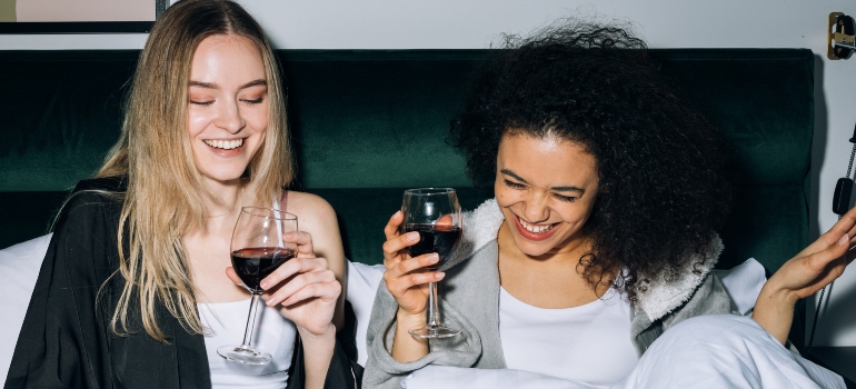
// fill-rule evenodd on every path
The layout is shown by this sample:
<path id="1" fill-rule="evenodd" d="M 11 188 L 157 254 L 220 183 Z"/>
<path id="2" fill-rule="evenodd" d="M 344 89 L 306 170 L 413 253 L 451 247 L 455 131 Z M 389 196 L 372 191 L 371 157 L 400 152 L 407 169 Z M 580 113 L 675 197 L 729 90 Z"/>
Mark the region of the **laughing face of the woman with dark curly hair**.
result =
<path id="1" fill-rule="evenodd" d="M 597 197 L 597 162 L 576 142 L 506 133 L 494 190 L 521 252 L 567 252 L 587 240 L 581 231 Z"/>

